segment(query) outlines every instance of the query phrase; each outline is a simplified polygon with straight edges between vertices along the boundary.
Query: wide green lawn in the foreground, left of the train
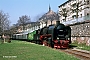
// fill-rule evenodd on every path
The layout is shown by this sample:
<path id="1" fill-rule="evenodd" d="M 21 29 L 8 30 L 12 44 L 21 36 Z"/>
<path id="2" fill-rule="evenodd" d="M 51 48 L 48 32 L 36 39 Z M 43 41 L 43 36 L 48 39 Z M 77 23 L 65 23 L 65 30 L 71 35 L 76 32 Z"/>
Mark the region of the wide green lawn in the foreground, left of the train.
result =
<path id="1" fill-rule="evenodd" d="M 31 44 L 25 41 L 15 41 L 0 44 L 0 60 L 78 60 L 72 55 L 58 50 Z"/>

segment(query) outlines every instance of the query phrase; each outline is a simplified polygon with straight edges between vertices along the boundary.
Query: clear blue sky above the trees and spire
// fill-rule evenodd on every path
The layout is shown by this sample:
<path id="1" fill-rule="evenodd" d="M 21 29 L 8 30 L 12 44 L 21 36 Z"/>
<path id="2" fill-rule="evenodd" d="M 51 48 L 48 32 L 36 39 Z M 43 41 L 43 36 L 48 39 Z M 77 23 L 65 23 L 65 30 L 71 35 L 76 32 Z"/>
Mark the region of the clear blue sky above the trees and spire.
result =
<path id="1" fill-rule="evenodd" d="M 33 22 L 37 15 L 48 12 L 49 5 L 54 12 L 67 0 L 0 0 L 0 10 L 9 14 L 11 25 L 16 24 L 19 17 L 30 16 Z"/>

